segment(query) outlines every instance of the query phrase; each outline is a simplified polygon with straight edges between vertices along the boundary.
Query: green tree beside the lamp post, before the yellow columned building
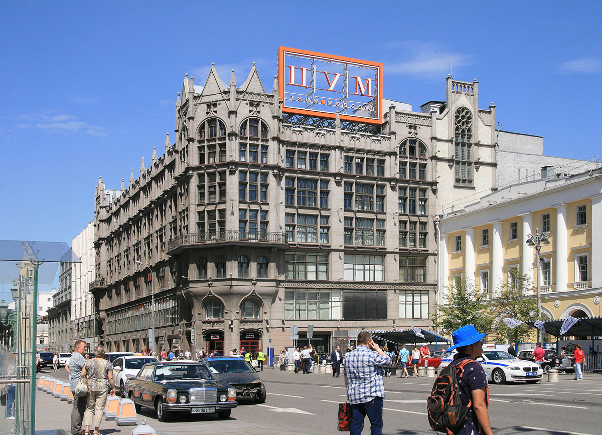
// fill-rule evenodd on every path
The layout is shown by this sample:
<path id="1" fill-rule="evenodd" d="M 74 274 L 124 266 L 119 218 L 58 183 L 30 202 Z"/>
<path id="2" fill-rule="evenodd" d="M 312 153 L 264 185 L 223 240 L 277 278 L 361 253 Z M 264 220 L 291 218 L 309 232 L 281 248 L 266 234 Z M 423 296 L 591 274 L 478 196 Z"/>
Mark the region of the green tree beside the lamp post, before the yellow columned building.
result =
<path id="1" fill-rule="evenodd" d="M 523 322 L 537 318 L 537 297 L 533 295 L 533 288 L 529 276 L 521 275 L 516 268 L 508 270 L 508 280 L 501 286 L 495 298 L 497 319 L 495 330 L 500 342 L 529 341 L 532 327 L 521 324 L 510 329 L 504 323 L 504 318 L 514 318 Z"/>

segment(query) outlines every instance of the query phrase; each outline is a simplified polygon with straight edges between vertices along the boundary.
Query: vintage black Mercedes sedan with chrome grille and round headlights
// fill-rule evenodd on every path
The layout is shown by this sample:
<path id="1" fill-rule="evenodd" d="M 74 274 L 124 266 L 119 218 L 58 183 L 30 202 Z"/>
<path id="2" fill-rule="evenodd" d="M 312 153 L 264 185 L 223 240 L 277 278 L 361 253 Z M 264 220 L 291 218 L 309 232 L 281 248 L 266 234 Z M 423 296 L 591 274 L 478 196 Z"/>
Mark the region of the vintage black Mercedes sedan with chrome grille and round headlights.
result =
<path id="1" fill-rule="evenodd" d="M 154 409 L 159 421 L 169 421 L 173 412 L 217 413 L 227 419 L 237 406 L 236 389 L 194 362 L 148 363 L 129 378 L 126 390 L 137 411 L 143 406 Z"/>

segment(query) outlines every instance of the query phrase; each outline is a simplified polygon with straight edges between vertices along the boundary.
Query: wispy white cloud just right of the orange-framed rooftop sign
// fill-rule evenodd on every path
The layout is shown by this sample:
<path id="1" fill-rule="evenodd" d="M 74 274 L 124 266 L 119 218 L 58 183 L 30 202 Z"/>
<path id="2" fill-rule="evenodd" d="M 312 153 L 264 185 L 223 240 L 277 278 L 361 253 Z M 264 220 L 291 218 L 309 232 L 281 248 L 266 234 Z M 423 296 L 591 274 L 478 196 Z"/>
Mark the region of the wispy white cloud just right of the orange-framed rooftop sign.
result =
<path id="1" fill-rule="evenodd" d="M 453 68 L 471 64 L 471 56 L 448 51 L 437 42 L 398 42 L 391 49 L 407 60 L 385 65 L 387 74 L 436 76 L 447 75 Z"/>

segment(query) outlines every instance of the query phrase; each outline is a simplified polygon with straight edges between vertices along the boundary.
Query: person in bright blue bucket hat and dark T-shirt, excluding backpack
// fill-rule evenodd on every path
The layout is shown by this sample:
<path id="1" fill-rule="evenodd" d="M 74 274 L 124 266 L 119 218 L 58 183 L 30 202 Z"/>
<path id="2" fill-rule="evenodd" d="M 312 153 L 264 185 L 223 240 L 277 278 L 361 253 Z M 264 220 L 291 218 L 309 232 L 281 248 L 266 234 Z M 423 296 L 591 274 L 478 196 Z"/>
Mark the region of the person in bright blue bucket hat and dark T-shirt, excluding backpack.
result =
<path id="1" fill-rule="evenodd" d="M 462 406 L 470 406 L 464 427 L 457 435 L 492 435 L 489 424 L 489 384 L 483 367 L 474 359 L 483 354 L 482 339 L 487 334 L 480 334 L 473 325 L 465 325 L 452 333 L 453 346 L 448 350 L 458 351 L 452 364 L 458 365 L 463 360 L 470 360 L 464 366 L 464 372 L 458 376 L 458 389 Z"/>

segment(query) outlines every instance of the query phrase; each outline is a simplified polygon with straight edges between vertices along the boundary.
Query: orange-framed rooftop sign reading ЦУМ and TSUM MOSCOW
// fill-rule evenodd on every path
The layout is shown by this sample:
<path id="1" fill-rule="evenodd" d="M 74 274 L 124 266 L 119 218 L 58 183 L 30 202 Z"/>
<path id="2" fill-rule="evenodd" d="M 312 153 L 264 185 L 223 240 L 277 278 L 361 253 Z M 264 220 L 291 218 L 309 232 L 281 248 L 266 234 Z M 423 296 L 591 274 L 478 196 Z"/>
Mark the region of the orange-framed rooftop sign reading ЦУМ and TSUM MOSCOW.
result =
<path id="1" fill-rule="evenodd" d="M 285 113 L 382 124 L 382 63 L 280 47 Z"/>

